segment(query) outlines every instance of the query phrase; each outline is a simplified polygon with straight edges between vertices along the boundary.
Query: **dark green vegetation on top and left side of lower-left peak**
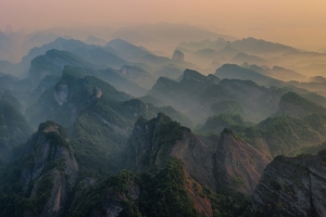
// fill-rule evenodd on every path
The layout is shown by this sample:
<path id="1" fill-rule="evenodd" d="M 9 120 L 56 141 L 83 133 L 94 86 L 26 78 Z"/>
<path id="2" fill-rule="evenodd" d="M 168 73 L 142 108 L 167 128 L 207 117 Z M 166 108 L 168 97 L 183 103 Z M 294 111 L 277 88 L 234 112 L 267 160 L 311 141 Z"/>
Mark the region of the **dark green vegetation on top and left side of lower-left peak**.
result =
<path id="1" fill-rule="evenodd" d="M 60 146 L 71 150 L 65 129 L 53 122 L 42 123 L 38 129 L 25 144 L 17 146 L 17 159 L 0 171 L 0 206 L 3 206 L 0 216 L 23 216 L 24 212 L 32 217 L 39 216 L 51 195 L 53 176 L 61 176 L 66 167 L 63 157 L 57 156 Z M 29 180 L 35 162 L 43 156 L 47 142 L 50 146 L 43 167 Z"/>

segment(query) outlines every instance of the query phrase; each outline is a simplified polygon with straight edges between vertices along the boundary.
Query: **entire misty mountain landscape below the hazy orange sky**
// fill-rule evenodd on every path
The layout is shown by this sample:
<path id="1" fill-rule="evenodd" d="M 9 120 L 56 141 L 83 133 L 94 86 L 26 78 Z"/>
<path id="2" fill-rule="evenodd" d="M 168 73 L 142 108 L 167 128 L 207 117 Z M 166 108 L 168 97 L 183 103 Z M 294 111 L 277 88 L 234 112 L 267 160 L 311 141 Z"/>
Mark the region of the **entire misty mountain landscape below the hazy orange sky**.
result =
<path id="1" fill-rule="evenodd" d="M 326 53 L 65 30 L 0 31 L 1 217 L 326 216 Z"/>

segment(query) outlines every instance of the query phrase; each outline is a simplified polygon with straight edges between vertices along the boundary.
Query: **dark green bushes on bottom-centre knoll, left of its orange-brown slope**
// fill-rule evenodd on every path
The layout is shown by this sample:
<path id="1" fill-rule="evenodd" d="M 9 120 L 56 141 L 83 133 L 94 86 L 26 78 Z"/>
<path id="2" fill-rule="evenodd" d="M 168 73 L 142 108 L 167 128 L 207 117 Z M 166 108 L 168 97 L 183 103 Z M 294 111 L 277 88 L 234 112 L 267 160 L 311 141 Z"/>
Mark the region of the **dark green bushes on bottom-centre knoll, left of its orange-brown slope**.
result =
<path id="1" fill-rule="evenodd" d="M 139 207 L 146 216 L 198 216 L 186 190 L 183 163 L 171 159 L 165 168 L 141 175 Z"/>

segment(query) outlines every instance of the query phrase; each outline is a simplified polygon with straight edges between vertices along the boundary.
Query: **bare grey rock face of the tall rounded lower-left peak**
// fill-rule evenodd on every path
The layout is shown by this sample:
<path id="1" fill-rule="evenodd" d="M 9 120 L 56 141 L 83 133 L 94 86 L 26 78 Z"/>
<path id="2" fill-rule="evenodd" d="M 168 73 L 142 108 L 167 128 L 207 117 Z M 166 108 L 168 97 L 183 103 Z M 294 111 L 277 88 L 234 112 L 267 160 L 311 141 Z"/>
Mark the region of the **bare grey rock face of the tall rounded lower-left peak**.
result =
<path id="1" fill-rule="evenodd" d="M 29 158 L 33 164 L 23 168 L 21 183 L 25 189 L 33 187 L 28 200 L 39 201 L 45 196 L 38 204 L 41 210 L 37 215 L 61 216 L 78 177 L 78 165 L 70 151 L 64 129 L 52 122 L 40 124 L 26 149 L 24 158 Z M 35 215 L 30 206 L 24 210 Z"/>

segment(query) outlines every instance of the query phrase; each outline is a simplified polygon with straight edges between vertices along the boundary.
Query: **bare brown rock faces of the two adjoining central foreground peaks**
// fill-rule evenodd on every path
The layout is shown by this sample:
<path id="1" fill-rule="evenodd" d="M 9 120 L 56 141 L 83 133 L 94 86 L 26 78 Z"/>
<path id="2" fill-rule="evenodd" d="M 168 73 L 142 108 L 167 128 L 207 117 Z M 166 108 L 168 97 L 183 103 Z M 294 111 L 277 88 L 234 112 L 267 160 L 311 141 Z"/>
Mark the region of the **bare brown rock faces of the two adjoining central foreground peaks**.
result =
<path id="1" fill-rule="evenodd" d="M 164 114 L 149 122 L 140 118 L 129 138 L 134 149 L 130 167 L 141 171 L 176 157 L 184 163 L 191 178 L 215 192 L 233 187 L 252 194 L 269 159 L 233 132 L 224 130 L 221 138 L 220 144 L 218 141 L 205 144 L 210 141 L 199 138 Z M 209 148 L 212 145 L 217 146 L 216 155 Z"/>

